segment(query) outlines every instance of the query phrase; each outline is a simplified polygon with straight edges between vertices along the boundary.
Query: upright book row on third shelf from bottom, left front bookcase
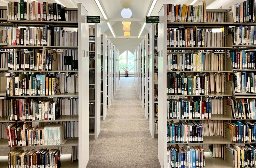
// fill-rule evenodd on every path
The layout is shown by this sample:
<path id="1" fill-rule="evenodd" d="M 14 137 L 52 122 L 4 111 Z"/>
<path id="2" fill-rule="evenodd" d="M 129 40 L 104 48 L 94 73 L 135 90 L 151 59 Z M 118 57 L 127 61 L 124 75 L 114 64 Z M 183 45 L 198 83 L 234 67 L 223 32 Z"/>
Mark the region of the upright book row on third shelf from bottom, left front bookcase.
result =
<path id="1" fill-rule="evenodd" d="M 56 120 L 60 117 L 59 102 L 53 99 L 10 99 L 8 107 L 11 121 Z"/>

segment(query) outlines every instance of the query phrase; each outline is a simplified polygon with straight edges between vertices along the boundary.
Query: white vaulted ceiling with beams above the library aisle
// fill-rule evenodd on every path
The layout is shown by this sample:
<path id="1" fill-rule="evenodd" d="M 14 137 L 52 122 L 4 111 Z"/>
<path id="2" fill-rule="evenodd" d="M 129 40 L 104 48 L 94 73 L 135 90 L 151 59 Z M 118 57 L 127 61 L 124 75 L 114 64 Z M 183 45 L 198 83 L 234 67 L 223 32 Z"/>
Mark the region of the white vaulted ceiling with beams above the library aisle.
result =
<path id="1" fill-rule="evenodd" d="M 26 0 L 25 0 L 26 1 Z M 29 0 L 28 0 L 29 1 Z M 82 3 L 83 6 L 89 12 L 89 15 L 102 16 L 97 4 L 94 0 L 37 0 L 37 2 L 61 2 L 67 7 L 77 7 L 77 3 Z M 121 11 L 123 7 L 120 5 L 120 0 L 99 0 L 102 2 L 102 6 L 105 9 L 105 13 L 108 18 L 122 18 Z M 151 16 L 158 16 L 158 12 L 163 6 L 163 4 L 172 3 L 172 4 L 190 4 L 193 0 L 158 0 L 156 5 L 151 13 Z M 199 3 L 197 0 L 194 4 Z M 241 1 L 241 0 L 240 0 Z M 239 0 L 206 0 L 208 9 L 217 9 L 222 7 L 222 9 L 228 9 L 228 7 L 232 4 L 240 2 Z M 149 10 L 153 0 L 133 0 L 133 5 L 131 6 L 132 18 L 145 18 L 147 11 Z M 5 6 L 8 3 L 7 0 L 0 0 L 0 5 Z M 116 47 L 121 51 L 127 49 L 129 46 L 130 52 L 134 52 L 136 46 L 142 42 L 142 38 L 144 38 L 145 34 L 149 32 L 149 28 L 151 24 L 146 24 L 145 29 L 141 34 L 141 38 L 136 38 L 140 32 L 141 26 L 144 22 L 132 21 L 131 30 L 130 30 L 130 38 L 123 37 L 123 25 L 121 21 L 110 21 L 110 24 L 113 27 L 116 37 L 113 38 L 111 31 L 109 30 L 108 25 L 105 21 L 101 21 L 99 24 L 101 27 L 101 32 L 106 33 L 108 37 L 111 38 L 111 42 L 116 45 Z M 120 37 L 122 36 L 122 37 Z"/>

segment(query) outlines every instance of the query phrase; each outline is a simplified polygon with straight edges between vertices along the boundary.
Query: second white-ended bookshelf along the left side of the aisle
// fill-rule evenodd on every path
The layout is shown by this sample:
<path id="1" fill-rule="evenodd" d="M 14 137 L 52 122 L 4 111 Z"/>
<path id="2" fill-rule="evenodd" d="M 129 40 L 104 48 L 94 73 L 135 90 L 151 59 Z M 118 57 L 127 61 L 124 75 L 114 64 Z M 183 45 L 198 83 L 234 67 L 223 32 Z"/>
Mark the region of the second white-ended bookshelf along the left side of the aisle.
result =
<path id="1" fill-rule="evenodd" d="M 94 58 L 94 69 L 92 69 L 92 73 L 94 73 L 94 79 L 90 79 L 90 86 L 89 89 L 94 90 L 94 97 L 89 97 L 89 102 L 94 103 L 94 115 L 91 116 L 90 122 L 92 122 L 92 126 L 90 129 L 90 139 L 97 139 L 100 133 L 100 112 L 101 112 L 101 33 L 100 33 L 100 26 L 98 24 L 89 25 L 89 29 L 94 29 L 94 34 L 90 34 L 89 43 L 94 44 L 94 51 L 93 47 L 89 48 L 89 57 Z M 89 63 L 89 62 L 88 62 Z M 89 69 L 89 68 L 88 68 Z M 91 76 L 93 77 L 93 76 Z M 89 93 L 89 92 L 88 92 Z"/>

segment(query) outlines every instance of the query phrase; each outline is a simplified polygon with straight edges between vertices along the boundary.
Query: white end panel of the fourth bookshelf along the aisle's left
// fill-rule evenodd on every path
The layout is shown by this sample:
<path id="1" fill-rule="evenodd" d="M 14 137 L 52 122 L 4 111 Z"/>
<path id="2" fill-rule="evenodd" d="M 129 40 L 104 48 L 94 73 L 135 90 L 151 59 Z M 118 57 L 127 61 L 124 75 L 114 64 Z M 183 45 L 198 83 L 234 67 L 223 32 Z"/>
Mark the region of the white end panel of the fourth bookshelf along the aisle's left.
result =
<path id="1" fill-rule="evenodd" d="M 107 39 L 107 108 L 111 107 L 111 40 Z"/>

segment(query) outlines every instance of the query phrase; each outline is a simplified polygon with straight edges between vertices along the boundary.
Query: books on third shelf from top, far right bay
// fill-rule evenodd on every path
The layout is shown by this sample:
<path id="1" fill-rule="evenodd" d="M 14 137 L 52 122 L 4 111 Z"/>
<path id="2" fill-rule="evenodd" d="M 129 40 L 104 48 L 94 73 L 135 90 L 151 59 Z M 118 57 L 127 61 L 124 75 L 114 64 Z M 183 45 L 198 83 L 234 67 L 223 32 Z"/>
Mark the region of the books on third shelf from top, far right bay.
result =
<path id="1" fill-rule="evenodd" d="M 230 50 L 229 57 L 232 58 L 233 69 L 256 69 L 253 51 Z"/>

